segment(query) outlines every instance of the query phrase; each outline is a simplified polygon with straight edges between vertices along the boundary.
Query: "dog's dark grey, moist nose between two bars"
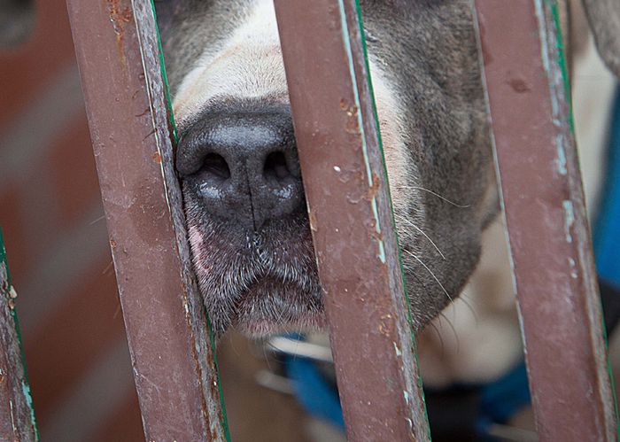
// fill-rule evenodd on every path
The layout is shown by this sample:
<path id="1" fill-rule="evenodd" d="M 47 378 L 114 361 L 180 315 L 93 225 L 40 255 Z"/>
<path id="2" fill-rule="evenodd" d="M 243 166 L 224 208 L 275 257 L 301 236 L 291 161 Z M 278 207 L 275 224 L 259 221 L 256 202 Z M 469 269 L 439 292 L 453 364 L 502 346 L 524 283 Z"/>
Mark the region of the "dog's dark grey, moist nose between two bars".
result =
<path id="1" fill-rule="evenodd" d="M 287 110 L 205 115 L 183 134 L 176 167 L 207 213 L 248 229 L 303 209 Z"/>

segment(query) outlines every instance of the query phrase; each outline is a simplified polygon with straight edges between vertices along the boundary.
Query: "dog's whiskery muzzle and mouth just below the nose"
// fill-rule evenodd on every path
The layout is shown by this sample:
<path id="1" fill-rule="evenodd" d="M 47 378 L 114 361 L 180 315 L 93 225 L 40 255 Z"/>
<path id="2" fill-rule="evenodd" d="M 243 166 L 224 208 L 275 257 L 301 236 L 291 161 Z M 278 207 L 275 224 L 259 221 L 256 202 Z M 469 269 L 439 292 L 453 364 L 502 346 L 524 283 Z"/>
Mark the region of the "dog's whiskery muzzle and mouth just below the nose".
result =
<path id="1" fill-rule="evenodd" d="M 190 192 L 184 196 L 198 286 L 216 336 L 230 326 L 253 336 L 324 326 L 304 213 L 250 232 L 213 220 Z"/>

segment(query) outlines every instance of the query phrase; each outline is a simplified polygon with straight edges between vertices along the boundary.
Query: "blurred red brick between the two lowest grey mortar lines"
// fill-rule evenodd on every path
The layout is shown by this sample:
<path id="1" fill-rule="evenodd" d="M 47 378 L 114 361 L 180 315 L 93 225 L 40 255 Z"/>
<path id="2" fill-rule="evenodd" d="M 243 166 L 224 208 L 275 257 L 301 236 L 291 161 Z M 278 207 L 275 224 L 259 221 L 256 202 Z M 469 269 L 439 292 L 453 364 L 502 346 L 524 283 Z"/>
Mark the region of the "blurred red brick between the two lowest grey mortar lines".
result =
<path id="1" fill-rule="evenodd" d="M 103 273 L 111 262 L 106 255 L 88 275 L 76 278 L 74 290 L 66 293 L 58 310 L 26 337 L 27 370 L 37 419 L 43 424 L 76 380 L 125 339 L 112 267 Z"/>

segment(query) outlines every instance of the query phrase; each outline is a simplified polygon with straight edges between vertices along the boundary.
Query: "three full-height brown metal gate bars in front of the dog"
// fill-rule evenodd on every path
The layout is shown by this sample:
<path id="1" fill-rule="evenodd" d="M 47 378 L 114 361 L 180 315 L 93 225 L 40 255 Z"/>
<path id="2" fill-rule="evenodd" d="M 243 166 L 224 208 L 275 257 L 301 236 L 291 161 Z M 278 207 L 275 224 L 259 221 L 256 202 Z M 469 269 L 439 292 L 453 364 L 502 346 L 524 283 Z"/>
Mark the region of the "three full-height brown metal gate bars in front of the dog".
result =
<path id="1" fill-rule="evenodd" d="M 227 439 L 151 0 L 67 3 L 145 436 Z M 347 437 L 429 440 L 359 5 L 275 10 Z M 557 7 L 475 13 L 539 438 L 616 440 Z"/>

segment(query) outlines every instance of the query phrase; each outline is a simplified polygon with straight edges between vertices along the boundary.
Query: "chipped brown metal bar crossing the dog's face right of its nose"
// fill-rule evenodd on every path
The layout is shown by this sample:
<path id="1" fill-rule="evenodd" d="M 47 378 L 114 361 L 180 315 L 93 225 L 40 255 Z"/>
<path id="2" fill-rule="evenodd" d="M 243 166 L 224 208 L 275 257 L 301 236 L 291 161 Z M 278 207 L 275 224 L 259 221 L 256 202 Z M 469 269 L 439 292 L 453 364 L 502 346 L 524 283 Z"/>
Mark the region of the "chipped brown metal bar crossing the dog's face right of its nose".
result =
<path id="1" fill-rule="evenodd" d="M 357 4 L 275 12 L 347 436 L 428 440 Z"/>

